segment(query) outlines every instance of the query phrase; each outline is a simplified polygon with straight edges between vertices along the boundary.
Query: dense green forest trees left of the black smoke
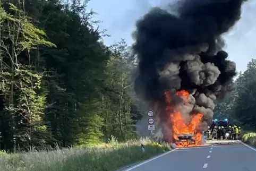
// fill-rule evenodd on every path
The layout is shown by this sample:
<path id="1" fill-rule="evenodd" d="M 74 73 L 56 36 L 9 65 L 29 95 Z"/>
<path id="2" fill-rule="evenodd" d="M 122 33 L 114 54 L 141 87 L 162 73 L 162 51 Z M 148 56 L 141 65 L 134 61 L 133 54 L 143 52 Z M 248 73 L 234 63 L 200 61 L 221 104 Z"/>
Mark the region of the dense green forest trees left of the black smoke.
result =
<path id="1" fill-rule="evenodd" d="M 87 3 L 2 0 L 1 149 L 136 136 L 134 60 L 124 40 L 104 45 Z"/>

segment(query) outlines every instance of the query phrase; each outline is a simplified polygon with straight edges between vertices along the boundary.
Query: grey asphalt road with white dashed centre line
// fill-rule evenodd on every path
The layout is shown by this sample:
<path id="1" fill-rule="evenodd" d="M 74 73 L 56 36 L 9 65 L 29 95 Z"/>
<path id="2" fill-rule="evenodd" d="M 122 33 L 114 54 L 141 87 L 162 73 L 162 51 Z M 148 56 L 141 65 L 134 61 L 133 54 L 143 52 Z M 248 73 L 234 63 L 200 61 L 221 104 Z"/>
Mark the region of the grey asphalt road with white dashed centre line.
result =
<path id="1" fill-rule="evenodd" d="M 242 142 L 182 148 L 136 164 L 125 171 L 256 171 L 256 149 Z"/>

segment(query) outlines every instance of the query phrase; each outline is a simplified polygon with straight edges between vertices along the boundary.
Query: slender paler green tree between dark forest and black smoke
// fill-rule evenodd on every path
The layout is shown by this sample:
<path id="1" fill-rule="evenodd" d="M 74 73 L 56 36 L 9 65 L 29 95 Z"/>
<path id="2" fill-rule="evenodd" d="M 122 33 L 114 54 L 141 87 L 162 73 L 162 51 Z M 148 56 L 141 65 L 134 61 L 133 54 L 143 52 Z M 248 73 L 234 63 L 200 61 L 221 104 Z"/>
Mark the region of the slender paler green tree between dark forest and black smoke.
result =
<path id="1" fill-rule="evenodd" d="M 134 137 L 134 123 L 132 122 L 132 89 L 130 71 L 132 69 L 131 55 L 124 40 L 110 47 L 112 54 L 107 65 L 106 88 L 103 92 L 103 118 L 105 118 L 104 132 L 106 138 L 111 135 L 120 140 Z"/>

